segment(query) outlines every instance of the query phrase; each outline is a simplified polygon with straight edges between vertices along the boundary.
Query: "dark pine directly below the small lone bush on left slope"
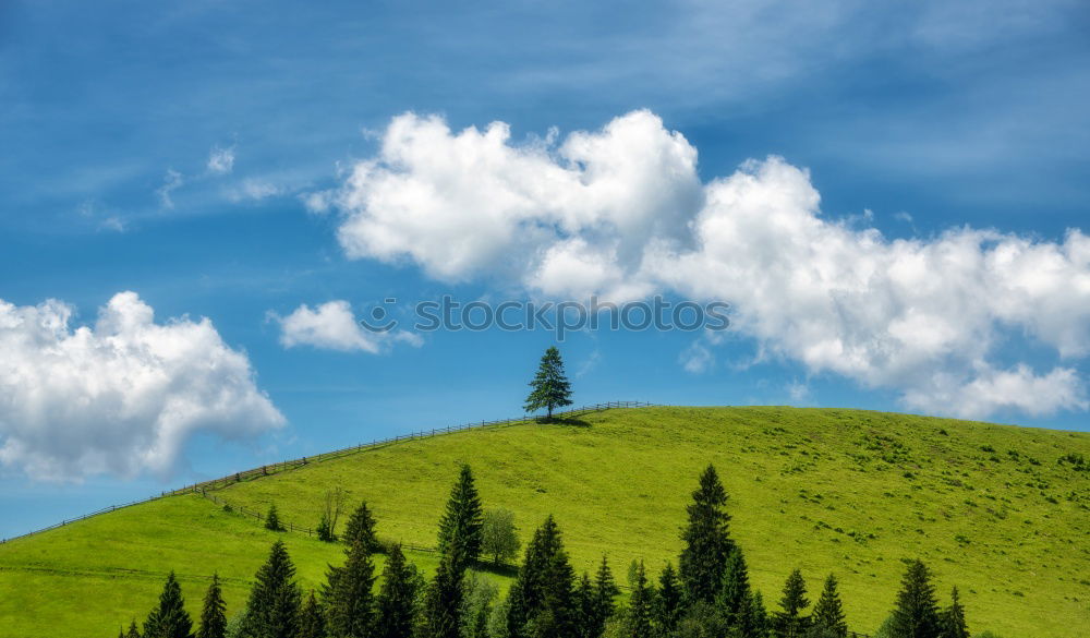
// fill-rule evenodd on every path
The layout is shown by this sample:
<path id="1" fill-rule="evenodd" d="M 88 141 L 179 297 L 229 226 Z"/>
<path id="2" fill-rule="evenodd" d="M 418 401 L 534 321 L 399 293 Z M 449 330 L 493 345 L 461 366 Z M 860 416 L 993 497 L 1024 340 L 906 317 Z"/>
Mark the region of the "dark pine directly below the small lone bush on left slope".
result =
<path id="1" fill-rule="evenodd" d="M 299 633 L 302 592 L 295 566 L 283 541 L 272 543 L 268 561 L 257 570 L 242 618 L 244 638 L 294 638 Z"/>

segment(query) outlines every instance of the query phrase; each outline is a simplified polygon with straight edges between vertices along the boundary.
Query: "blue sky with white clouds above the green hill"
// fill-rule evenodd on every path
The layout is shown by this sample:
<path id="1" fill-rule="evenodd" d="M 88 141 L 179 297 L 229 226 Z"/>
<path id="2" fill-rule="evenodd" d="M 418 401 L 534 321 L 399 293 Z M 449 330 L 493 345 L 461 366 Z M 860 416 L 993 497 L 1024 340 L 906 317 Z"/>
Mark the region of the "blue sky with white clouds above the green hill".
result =
<path id="1" fill-rule="evenodd" d="M 334 301 L 725 299 L 725 335 L 571 336 L 577 401 L 1085 431 L 1088 32 L 1079 2 L 4 2 L 0 535 L 519 413 L 553 342 L 373 341 Z"/>

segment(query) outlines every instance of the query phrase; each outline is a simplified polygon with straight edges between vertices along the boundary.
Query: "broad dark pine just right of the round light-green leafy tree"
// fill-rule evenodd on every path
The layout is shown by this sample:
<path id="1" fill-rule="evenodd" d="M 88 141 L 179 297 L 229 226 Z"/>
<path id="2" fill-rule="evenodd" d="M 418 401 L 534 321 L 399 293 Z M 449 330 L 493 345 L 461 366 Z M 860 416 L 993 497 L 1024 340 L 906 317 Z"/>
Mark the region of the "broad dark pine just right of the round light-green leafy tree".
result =
<path id="1" fill-rule="evenodd" d="M 528 626 L 540 638 L 568 638 L 574 634 L 573 580 L 560 530 L 549 516 L 534 532 L 508 594 L 509 638 L 524 638 Z"/>

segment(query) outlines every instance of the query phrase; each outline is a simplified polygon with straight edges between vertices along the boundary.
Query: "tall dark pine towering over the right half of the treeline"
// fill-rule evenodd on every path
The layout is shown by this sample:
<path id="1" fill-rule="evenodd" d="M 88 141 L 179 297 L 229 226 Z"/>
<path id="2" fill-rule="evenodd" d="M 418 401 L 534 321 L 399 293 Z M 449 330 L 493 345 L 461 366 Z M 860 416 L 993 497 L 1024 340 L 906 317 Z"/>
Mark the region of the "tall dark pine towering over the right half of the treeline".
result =
<path id="1" fill-rule="evenodd" d="M 700 477 L 700 487 L 687 507 L 688 523 L 682 529 L 685 547 L 678 564 L 687 604 L 712 602 L 723 582 L 727 556 L 734 547 L 724 510 L 727 493 L 715 468 L 707 466 Z"/>

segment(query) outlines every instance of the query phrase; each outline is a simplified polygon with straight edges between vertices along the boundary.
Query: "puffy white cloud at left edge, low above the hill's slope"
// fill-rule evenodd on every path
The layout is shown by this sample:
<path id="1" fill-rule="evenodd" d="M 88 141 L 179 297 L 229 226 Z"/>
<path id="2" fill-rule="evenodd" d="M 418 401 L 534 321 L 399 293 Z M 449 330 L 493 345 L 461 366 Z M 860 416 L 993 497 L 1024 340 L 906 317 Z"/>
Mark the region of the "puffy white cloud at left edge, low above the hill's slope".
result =
<path id="1" fill-rule="evenodd" d="M 169 473 L 196 432 L 253 436 L 284 419 L 245 353 L 207 318 L 154 321 L 119 292 L 94 326 L 70 305 L 0 300 L 0 462 L 49 480 Z"/>

